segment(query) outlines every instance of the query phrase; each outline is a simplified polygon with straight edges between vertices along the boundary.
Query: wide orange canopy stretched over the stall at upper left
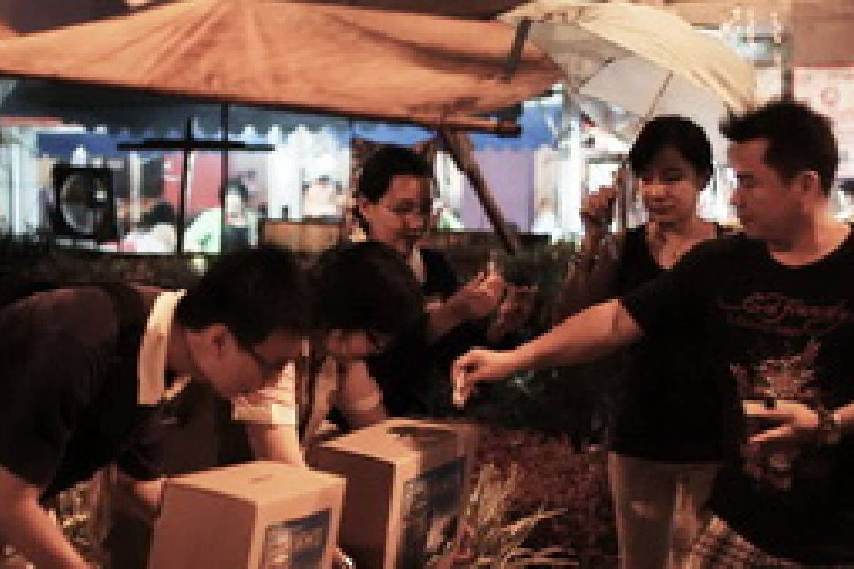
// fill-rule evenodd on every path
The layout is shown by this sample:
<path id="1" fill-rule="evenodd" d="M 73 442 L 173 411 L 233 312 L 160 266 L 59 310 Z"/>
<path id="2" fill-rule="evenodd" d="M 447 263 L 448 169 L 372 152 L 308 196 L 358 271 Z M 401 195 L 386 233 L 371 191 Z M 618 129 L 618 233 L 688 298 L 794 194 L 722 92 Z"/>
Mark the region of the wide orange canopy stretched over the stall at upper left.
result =
<path id="1" fill-rule="evenodd" d="M 0 73 L 423 125 L 537 95 L 559 70 L 514 30 L 274 0 L 188 0 L 3 41 Z"/>

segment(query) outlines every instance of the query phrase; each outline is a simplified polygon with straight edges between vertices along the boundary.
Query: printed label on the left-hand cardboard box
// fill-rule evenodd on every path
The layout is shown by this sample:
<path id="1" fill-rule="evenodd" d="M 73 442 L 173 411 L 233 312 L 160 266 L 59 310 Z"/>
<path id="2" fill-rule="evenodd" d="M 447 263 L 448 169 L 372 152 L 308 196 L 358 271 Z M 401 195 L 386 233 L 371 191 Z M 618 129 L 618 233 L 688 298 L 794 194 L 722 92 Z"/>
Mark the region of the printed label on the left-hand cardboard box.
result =
<path id="1" fill-rule="evenodd" d="M 259 569 L 319 569 L 329 536 L 331 510 L 268 525 Z"/>

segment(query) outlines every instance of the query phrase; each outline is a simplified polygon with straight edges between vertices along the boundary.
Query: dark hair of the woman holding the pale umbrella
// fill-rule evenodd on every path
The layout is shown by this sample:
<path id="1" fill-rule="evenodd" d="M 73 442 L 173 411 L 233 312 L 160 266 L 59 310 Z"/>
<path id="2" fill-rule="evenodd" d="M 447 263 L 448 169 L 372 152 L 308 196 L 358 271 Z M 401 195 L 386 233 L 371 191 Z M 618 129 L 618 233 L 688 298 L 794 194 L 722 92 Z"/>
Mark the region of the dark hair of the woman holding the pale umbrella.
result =
<path id="1" fill-rule="evenodd" d="M 692 120 L 675 115 L 656 117 L 640 130 L 629 151 L 632 173 L 640 176 L 664 148 L 676 150 L 708 182 L 711 177 L 709 138 Z"/>

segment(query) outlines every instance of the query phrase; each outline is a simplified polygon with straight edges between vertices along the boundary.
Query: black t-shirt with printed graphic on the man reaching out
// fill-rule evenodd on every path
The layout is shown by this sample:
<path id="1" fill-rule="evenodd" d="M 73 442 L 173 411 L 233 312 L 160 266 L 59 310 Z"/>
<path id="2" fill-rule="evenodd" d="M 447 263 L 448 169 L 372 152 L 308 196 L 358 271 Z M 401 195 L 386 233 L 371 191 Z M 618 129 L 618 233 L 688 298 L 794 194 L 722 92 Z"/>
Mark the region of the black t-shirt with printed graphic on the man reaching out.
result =
<path id="1" fill-rule="evenodd" d="M 854 401 L 854 236 L 815 263 L 786 267 L 744 237 L 695 247 L 672 270 L 623 297 L 644 332 L 699 346 L 697 374 L 724 402 L 732 452 L 711 506 L 761 549 L 805 563 L 854 561 L 854 444 L 801 444 L 786 460 L 740 458 L 740 394 L 775 378 L 804 403 Z M 796 386 L 800 386 L 795 390 Z"/>

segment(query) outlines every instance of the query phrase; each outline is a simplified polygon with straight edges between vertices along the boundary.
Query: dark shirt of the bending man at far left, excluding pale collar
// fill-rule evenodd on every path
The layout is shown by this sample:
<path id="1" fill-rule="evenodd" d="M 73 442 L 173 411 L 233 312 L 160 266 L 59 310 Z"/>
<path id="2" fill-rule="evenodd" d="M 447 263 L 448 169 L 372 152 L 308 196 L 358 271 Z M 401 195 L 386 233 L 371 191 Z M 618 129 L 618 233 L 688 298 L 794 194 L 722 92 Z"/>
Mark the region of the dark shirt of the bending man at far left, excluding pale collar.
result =
<path id="1" fill-rule="evenodd" d="M 156 293 L 38 293 L 0 310 L 0 465 L 43 497 L 110 462 L 158 475 L 159 409 L 137 405 L 137 353 Z"/>

